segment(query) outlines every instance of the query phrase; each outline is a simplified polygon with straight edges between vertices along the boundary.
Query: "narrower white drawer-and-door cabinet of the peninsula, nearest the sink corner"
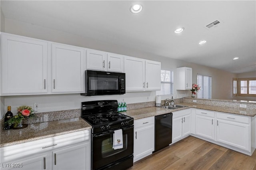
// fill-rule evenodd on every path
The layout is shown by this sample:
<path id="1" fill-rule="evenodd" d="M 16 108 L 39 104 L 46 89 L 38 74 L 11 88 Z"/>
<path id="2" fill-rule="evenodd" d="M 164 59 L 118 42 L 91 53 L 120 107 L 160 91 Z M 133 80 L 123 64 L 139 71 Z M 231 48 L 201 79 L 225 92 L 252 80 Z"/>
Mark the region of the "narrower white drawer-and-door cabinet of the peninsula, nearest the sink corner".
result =
<path id="1" fill-rule="evenodd" d="M 215 114 L 196 109 L 196 135 L 215 140 Z"/>

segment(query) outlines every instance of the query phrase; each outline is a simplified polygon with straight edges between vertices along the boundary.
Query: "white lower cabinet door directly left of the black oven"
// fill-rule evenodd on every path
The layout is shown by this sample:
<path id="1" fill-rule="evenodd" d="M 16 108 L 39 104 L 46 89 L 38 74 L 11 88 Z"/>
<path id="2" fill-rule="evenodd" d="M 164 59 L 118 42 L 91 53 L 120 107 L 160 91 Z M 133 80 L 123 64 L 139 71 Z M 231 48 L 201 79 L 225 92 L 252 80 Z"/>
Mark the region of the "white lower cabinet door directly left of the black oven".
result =
<path id="1" fill-rule="evenodd" d="M 53 170 L 90 169 L 90 142 L 52 152 Z"/>

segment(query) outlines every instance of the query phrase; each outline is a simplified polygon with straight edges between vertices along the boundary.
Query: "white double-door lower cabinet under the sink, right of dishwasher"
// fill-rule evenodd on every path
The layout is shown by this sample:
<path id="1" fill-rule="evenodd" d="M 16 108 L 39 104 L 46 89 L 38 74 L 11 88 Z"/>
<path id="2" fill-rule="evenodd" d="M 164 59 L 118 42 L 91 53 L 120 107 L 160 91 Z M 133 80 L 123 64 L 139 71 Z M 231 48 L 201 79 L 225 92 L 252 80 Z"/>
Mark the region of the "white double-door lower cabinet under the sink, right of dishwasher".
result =
<path id="1" fill-rule="evenodd" d="M 172 113 L 172 143 L 179 141 L 191 133 L 190 109 Z"/>

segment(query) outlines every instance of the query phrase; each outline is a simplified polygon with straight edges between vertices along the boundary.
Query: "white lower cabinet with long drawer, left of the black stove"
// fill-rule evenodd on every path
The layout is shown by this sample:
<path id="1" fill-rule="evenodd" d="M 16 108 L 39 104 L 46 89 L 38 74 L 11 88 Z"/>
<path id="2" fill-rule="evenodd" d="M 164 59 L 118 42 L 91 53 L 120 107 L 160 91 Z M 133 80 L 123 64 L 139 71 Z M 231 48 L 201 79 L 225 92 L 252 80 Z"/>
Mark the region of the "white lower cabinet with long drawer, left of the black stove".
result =
<path id="1" fill-rule="evenodd" d="M 88 170 L 90 130 L 2 147 L 4 170 Z"/>

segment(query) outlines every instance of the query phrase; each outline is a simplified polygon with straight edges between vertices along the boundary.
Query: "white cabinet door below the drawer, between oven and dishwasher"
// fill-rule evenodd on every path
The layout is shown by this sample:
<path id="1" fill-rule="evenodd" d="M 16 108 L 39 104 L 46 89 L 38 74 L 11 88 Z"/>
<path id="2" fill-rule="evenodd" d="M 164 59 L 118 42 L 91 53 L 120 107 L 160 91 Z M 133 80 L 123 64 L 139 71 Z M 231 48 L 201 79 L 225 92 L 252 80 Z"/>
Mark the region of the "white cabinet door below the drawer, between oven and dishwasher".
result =
<path id="1" fill-rule="evenodd" d="M 154 125 L 134 129 L 134 159 L 144 158 L 154 151 Z"/>

